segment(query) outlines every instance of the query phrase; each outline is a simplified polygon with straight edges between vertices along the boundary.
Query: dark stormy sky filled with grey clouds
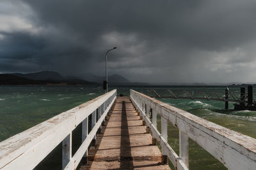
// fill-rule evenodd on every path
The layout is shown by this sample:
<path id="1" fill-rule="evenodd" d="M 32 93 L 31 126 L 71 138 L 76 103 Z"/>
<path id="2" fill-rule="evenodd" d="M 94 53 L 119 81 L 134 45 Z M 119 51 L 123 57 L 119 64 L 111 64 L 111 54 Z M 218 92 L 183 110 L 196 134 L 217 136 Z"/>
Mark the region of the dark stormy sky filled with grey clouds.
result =
<path id="1" fill-rule="evenodd" d="M 256 1 L 1 0 L 0 73 L 256 82 Z"/>

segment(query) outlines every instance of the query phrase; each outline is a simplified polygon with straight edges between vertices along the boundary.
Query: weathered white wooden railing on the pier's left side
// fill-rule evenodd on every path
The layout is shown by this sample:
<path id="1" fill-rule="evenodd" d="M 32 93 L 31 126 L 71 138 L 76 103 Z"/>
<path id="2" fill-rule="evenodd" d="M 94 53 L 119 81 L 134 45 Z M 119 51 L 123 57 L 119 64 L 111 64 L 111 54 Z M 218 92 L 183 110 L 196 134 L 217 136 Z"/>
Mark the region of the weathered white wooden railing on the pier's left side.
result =
<path id="1" fill-rule="evenodd" d="M 0 169 L 33 169 L 61 141 L 62 169 L 76 169 L 115 99 L 116 90 L 112 90 L 1 142 Z M 92 131 L 88 134 L 89 115 L 92 115 Z M 72 157 L 72 131 L 80 123 L 82 144 Z"/>

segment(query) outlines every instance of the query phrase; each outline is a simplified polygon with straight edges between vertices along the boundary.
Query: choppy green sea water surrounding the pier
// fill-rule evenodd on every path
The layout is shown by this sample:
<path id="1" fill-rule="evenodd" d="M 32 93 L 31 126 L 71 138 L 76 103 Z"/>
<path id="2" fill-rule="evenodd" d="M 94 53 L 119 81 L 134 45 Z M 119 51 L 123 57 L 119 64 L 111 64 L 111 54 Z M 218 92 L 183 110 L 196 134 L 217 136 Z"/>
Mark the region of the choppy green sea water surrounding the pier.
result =
<path id="1" fill-rule="evenodd" d="M 240 87 L 228 87 L 230 92 L 239 95 Z M 160 96 L 170 96 L 168 90 L 182 94 L 184 90 L 210 92 L 223 92 L 224 86 L 147 86 L 147 87 L 109 87 L 109 90 L 117 89 L 117 95 L 129 95 L 129 90 L 134 89 L 143 94 L 153 96 L 156 90 Z M 254 87 L 255 89 L 255 87 Z M 104 94 L 102 87 L 86 87 L 80 85 L 20 85 L 0 86 L 0 141 L 14 136 L 36 124 L 67 111 L 79 104 L 90 101 Z M 256 111 L 234 111 L 233 104 L 229 103 L 225 110 L 223 101 L 207 101 L 198 99 L 159 99 L 193 115 L 227 127 L 233 131 L 241 132 L 256 138 Z M 158 127 L 161 129 L 161 118 L 157 118 Z M 79 129 L 80 128 L 80 129 Z M 73 152 L 81 144 L 81 126 L 77 127 L 72 136 Z M 179 155 L 179 130 L 168 124 L 168 143 Z M 172 167 L 171 163 L 169 162 Z M 61 169 L 61 144 L 58 145 L 35 169 Z M 173 169 L 173 167 L 172 167 Z M 175 169 L 175 168 L 174 168 Z M 221 162 L 203 148 L 189 139 L 189 169 L 227 169 Z"/>

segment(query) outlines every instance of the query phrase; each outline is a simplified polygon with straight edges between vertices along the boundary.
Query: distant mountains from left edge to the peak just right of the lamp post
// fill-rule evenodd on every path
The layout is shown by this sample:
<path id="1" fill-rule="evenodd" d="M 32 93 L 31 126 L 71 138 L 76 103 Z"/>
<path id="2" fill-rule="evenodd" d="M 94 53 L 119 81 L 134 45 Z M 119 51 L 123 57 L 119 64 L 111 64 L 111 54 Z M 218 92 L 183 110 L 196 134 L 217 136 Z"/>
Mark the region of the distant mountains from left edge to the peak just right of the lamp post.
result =
<path id="1" fill-rule="evenodd" d="M 105 77 L 91 74 L 83 78 L 63 77 L 55 71 L 40 71 L 37 73 L 0 74 L 0 85 L 102 85 Z M 113 74 L 108 76 L 109 85 L 146 85 L 134 83 L 123 76 Z"/>

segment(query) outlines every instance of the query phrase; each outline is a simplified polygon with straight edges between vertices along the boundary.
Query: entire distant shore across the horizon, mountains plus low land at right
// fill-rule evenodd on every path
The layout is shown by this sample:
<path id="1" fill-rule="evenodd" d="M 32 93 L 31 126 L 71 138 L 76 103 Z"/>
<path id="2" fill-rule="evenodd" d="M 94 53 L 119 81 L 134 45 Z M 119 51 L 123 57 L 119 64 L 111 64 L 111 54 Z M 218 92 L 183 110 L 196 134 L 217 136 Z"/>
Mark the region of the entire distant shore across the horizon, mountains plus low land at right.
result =
<path id="1" fill-rule="evenodd" d="M 95 76 L 87 74 L 85 80 L 77 77 L 63 77 L 55 71 L 40 71 L 37 73 L 12 73 L 0 74 L 0 85 L 93 85 L 102 86 L 105 76 Z M 140 83 L 132 82 L 120 76 L 113 74 L 108 76 L 109 86 L 245 86 L 256 85 L 256 83 Z"/>

